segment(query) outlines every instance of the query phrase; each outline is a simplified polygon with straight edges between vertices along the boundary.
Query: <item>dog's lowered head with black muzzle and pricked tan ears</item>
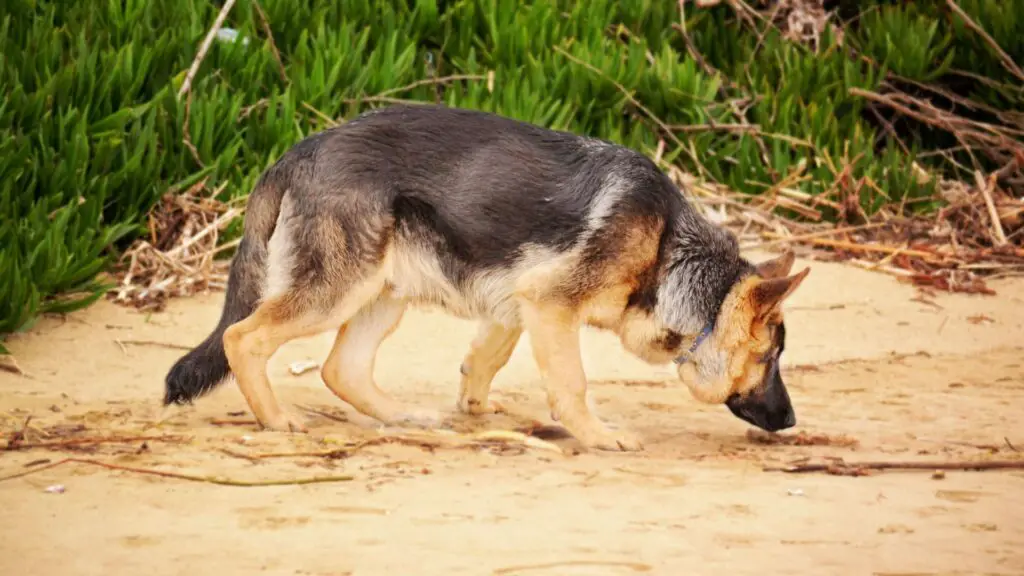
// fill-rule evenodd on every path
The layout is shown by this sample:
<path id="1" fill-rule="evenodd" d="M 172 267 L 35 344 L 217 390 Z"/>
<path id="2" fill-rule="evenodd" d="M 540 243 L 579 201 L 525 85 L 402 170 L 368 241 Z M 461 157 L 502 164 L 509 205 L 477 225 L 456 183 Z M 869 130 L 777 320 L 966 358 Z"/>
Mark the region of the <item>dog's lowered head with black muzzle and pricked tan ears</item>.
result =
<path id="1" fill-rule="evenodd" d="M 794 254 L 756 266 L 729 291 L 718 320 L 679 359 L 679 377 L 700 402 L 725 404 L 738 418 L 775 431 L 796 424 L 779 373 L 785 347 L 782 301 L 810 273 L 790 276 Z"/>

